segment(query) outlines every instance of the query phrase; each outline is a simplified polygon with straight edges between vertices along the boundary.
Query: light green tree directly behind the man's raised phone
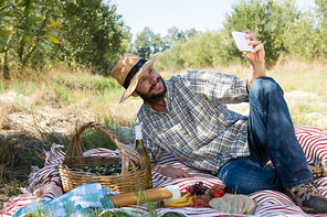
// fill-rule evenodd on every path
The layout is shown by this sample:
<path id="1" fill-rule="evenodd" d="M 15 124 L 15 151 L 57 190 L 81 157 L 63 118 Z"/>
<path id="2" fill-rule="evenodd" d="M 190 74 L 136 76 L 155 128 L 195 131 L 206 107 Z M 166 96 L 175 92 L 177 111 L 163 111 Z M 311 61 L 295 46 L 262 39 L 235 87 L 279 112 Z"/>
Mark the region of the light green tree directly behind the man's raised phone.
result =
<path id="1" fill-rule="evenodd" d="M 225 34 L 231 31 L 242 31 L 244 28 L 255 33 L 265 45 L 267 66 L 274 65 L 281 54 L 287 54 L 283 34 L 298 21 L 300 12 L 295 0 L 241 0 L 233 6 L 231 14 L 226 14 L 223 24 Z M 232 37 L 228 42 L 230 56 L 241 58 Z"/>

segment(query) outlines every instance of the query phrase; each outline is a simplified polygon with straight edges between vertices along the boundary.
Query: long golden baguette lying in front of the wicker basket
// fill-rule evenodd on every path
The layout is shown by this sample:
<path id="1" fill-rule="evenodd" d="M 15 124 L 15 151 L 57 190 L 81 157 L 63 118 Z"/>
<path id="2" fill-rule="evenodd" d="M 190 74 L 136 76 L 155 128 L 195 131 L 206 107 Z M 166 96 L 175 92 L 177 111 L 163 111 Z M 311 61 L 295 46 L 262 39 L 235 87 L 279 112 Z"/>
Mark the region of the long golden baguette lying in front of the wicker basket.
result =
<path id="1" fill-rule="evenodd" d="M 115 196 L 109 196 L 109 199 L 113 202 L 114 206 L 122 207 L 128 205 L 143 204 L 145 202 L 156 202 L 159 199 L 171 198 L 172 194 L 164 187 L 144 189 L 140 192 L 131 192 L 125 194 L 118 194 Z"/>

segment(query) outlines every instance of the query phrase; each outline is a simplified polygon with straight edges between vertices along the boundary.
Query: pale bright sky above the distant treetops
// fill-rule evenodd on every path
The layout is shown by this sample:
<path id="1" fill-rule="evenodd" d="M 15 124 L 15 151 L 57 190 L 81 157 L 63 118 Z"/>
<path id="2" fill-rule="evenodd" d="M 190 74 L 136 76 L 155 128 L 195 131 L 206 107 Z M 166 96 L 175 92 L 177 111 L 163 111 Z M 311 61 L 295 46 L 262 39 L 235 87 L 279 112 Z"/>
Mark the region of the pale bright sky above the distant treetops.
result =
<path id="1" fill-rule="evenodd" d="M 145 26 L 154 33 L 167 35 L 173 25 L 181 30 L 196 29 L 205 32 L 222 28 L 225 14 L 232 11 L 232 4 L 239 0 L 110 0 L 117 6 L 130 28 L 133 41 Z M 296 0 L 299 10 L 315 6 L 315 0 Z"/>

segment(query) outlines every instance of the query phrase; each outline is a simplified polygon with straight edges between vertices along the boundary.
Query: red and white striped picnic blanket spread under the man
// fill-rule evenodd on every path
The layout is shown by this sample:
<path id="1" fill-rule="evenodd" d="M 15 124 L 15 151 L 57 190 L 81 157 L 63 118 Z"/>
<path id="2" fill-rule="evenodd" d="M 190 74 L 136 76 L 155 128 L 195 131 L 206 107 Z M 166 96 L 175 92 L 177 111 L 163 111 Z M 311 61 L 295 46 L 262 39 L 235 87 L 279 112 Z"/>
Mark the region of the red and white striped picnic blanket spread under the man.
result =
<path id="1" fill-rule="evenodd" d="M 296 138 L 298 139 L 308 163 L 327 159 L 327 133 L 315 127 L 307 126 L 294 126 Z M 22 210 L 23 207 L 30 204 L 44 205 L 56 199 L 56 202 L 67 198 L 67 193 L 63 194 L 61 188 L 61 180 L 57 170 L 57 164 L 63 161 L 65 153 L 61 150 L 63 148 L 60 144 L 53 144 L 50 151 L 44 151 L 45 162 L 44 167 L 39 169 L 32 166 L 30 174 L 30 185 L 27 188 L 22 188 L 21 195 L 13 196 L 8 203 L 3 204 L 3 208 L 0 215 L 3 217 L 14 216 Z M 93 149 L 84 152 L 85 156 L 119 156 L 119 150 L 112 151 L 107 149 Z M 208 187 L 217 184 L 222 184 L 220 178 L 210 173 L 191 169 L 169 153 L 165 153 L 158 164 L 166 164 L 173 167 L 179 167 L 192 175 L 188 178 L 171 178 L 160 173 L 152 172 L 152 185 L 154 187 L 165 187 L 168 185 L 178 185 L 181 192 L 186 192 L 186 186 L 198 182 L 203 182 Z M 267 164 L 267 167 L 272 167 L 272 164 Z M 315 186 L 318 191 L 327 197 L 327 177 L 321 177 L 315 181 Z M 97 186 L 98 191 L 103 191 Z M 72 192 L 72 191 L 71 191 Z M 72 194 L 72 193 L 71 193 Z M 304 213 L 295 203 L 285 194 L 275 191 L 259 191 L 250 195 L 251 198 L 257 202 L 257 207 L 253 216 L 327 216 L 327 215 L 309 215 Z M 83 210 L 77 207 L 80 216 L 83 216 Z M 83 207 L 82 207 L 83 208 Z M 102 211 L 105 211 L 110 207 L 102 207 Z M 123 208 L 112 208 L 110 210 L 124 210 L 127 214 L 134 216 L 150 216 L 150 210 L 147 210 L 146 205 L 127 206 Z M 156 209 L 157 216 L 162 216 L 168 211 L 179 213 L 184 216 L 230 216 L 231 214 L 219 213 L 213 208 L 158 208 Z M 236 215 L 243 216 L 243 215 Z"/>

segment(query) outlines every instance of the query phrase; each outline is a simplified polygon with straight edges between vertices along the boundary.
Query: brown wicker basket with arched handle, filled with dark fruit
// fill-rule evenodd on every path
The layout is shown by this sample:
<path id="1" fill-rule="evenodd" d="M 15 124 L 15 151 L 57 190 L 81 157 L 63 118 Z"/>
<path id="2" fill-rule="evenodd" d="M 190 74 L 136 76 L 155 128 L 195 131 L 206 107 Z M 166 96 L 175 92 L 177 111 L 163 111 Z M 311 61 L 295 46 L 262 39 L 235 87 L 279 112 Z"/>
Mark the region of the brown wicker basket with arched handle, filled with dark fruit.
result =
<path id="1" fill-rule="evenodd" d="M 86 128 L 95 128 L 107 134 L 122 152 L 120 158 L 83 156 L 80 135 Z M 81 171 L 86 165 L 101 166 L 122 162 L 122 175 L 88 175 Z M 136 170 L 136 165 L 140 170 Z M 131 172 L 128 173 L 128 167 Z M 88 122 L 81 127 L 68 144 L 65 159 L 59 164 L 59 172 L 64 192 L 88 183 L 99 183 L 102 187 L 110 187 L 117 193 L 134 192 L 146 188 L 147 164 L 141 155 L 134 149 L 123 144 L 119 139 L 107 128 L 96 122 Z"/>

